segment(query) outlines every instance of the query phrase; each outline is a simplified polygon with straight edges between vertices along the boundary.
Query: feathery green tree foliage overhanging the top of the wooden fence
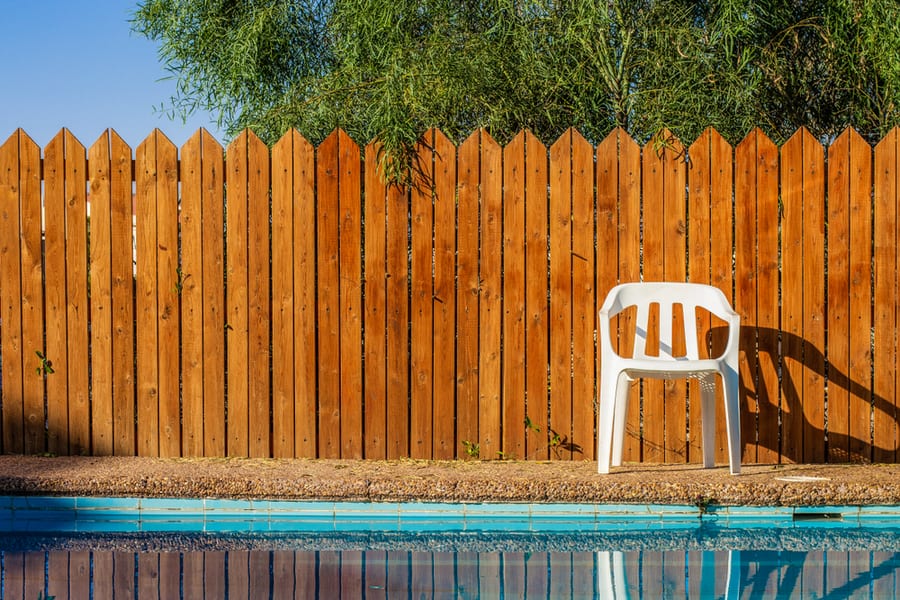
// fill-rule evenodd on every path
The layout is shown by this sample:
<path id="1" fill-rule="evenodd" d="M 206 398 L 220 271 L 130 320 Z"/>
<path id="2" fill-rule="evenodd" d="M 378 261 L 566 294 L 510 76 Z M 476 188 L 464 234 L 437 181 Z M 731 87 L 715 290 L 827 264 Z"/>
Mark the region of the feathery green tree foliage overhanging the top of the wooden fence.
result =
<path id="1" fill-rule="evenodd" d="M 132 27 L 160 43 L 174 113 L 270 143 L 377 137 L 402 181 L 432 126 L 874 139 L 900 119 L 898 23 L 895 0 L 143 0 Z"/>

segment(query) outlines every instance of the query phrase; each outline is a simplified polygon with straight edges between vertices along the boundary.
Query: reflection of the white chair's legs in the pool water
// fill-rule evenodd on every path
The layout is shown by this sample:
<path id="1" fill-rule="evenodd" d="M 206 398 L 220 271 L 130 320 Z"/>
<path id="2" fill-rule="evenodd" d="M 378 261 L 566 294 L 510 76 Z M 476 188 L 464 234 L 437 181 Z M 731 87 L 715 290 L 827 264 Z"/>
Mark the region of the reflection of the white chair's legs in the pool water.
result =
<path id="1" fill-rule="evenodd" d="M 679 551 L 683 552 L 683 551 Z M 637 554 L 637 553 L 635 553 Z M 715 562 L 715 554 L 718 552 L 703 552 L 702 567 L 698 573 L 700 581 L 696 589 L 700 590 L 701 598 L 720 598 L 721 587 L 716 581 L 721 581 L 721 568 Z M 708 559 L 708 560 L 707 560 Z M 649 574 L 653 576 L 654 574 Z M 644 571 L 641 576 L 646 579 L 648 573 Z M 663 572 L 658 573 L 659 585 L 650 586 L 662 589 Z M 610 600 L 631 600 L 642 598 L 639 582 L 629 585 L 628 576 L 625 573 L 625 553 L 613 550 L 601 550 L 597 552 L 597 590 L 596 597 Z M 694 587 L 693 585 L 691 587 Z M 728 567 L 725 579 L 725 600 L 741 597 L 741 551 L 728 551 Z M 653 600 L 656 600 L 654 598 Z"/>

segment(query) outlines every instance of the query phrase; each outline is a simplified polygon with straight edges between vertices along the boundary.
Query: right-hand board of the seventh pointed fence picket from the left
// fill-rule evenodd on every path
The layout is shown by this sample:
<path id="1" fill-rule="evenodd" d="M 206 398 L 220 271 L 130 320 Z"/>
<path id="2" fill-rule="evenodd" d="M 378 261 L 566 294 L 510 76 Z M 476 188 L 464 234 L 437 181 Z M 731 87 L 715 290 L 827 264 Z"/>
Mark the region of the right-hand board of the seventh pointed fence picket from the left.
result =
<path id="1" fill-rule="evenodd" d="M 317 456 L 316 396 L 316 196 L 315 149 L 297 131 L 293 144 L 294 207 L 294 448 L 298 458 Z"/>

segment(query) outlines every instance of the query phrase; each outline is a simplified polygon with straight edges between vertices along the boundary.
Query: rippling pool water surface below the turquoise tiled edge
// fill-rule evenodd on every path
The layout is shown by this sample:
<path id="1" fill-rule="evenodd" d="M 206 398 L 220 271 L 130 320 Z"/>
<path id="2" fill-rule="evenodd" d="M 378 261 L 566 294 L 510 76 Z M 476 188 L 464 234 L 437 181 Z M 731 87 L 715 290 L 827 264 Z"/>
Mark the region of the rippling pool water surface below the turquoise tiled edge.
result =
<path id="1" fill-rule="evenodd" d="M 16 534 L 3 598 L 895 598 L 900 529 Z"/>

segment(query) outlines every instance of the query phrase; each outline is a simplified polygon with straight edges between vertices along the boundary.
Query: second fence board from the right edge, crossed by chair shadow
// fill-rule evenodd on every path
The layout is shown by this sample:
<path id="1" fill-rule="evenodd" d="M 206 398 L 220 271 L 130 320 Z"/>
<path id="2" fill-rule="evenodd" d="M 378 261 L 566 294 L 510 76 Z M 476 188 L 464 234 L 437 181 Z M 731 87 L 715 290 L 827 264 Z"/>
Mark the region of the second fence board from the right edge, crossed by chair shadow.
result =
<path id="1" fill-rule="evenodd" d="M 869 462 L 872 460 L 873 418 L 872 148 L 855 130 L 848 131 L 850 132 L 849 453 L 851 462 Z M 829 392 L 830 388 L 829 385 Z"/>

